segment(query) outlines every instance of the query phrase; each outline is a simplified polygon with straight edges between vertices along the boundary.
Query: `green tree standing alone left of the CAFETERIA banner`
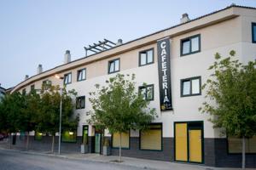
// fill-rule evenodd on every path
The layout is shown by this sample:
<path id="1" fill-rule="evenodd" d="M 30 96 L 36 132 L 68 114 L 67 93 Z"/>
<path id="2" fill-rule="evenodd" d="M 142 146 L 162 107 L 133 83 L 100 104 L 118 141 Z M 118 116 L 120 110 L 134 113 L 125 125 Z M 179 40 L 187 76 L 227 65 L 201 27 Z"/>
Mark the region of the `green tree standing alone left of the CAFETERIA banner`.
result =
<path id="1" fill-rule="evenodd" d="M 148 108 L 149 101 L 135 92 L 135 75 L 117 74 L 106 81 L 107 86 L 96 84 L 90 93 L 93 111 L 89 122 L 110 133 L 119 133 L 119 161 L 121 161 L 121 133 L 130 129 L 144 129 L 154 120 L 155 110 Z"/>

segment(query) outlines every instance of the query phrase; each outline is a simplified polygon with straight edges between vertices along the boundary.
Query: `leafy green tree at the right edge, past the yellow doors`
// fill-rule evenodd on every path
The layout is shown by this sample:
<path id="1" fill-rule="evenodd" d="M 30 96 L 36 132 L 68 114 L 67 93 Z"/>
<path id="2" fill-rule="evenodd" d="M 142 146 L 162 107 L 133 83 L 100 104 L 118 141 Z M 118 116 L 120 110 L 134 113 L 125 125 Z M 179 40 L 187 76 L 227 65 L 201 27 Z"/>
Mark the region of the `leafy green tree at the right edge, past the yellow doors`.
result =
<path id="1" fill-rule="evenodd" d="M 242 65 L 230 57 L 216 61 L 209 67 L 211 78 L 203 85 L 206 98 L 200 111 L 212 115 L 213 127 L 223 128 L 222 133 L 242 139 L 242 168 L 245 168 L 245 139 L 256 134 L 256 61 Z"/>

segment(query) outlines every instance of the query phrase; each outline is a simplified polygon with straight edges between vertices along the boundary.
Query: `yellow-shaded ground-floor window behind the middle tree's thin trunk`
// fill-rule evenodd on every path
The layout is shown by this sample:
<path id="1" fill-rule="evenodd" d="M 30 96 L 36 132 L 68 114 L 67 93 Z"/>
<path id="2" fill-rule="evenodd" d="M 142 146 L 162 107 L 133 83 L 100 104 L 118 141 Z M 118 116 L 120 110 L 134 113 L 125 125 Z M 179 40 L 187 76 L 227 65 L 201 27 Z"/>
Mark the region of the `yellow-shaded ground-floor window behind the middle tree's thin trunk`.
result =
<path id="1" fill-rule="evenodd" d="M 130 132 L 128 133 L 121 133 L 122 141 L 121 141 L 121 147 L 123 149 L 129 149 L 130 148 Z M 120 141 L 120 135 L 119 133 L 113 133 L 112 134 L 112 147 L 113 148 L 119 148 L 119 141 Z"/>

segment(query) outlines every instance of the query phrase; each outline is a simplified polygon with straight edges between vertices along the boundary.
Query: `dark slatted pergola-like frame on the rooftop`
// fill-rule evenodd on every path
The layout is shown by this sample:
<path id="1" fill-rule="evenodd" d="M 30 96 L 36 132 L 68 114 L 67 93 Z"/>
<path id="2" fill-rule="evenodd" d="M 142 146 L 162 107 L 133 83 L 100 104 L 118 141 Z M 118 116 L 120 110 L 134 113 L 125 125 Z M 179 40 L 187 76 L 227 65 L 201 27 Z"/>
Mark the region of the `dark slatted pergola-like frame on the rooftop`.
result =
<path id="1" fill-rule="evenodd" d="M 89 45 L 88 47 L 84 47 L 85 49 L 85 57 L 88 56 L 88 51 L 93 52 L 94 54 L 101 53 L 102 51 L 106 51 L 110 48 L 116 46 L 116 43 L 111 42 L 107 39 L 103 41 L 99 41 L 98 43 L 93 43 L 93 45 Z"/>

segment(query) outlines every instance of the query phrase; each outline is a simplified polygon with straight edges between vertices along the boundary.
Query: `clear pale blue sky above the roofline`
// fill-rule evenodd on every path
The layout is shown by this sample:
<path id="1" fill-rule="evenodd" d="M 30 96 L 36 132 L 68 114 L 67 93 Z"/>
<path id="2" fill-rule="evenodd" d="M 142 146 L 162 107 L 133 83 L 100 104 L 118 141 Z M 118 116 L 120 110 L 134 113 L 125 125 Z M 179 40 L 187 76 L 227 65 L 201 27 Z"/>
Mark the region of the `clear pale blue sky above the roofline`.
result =
<path id="1" fill-rule="evenodd" d="M 256 0 L 0 0 L 0 83 L 10 88 L 37 73 L 84 57 L 84 46 L 107 38 L 128 42 L 190 19 Z"/>

